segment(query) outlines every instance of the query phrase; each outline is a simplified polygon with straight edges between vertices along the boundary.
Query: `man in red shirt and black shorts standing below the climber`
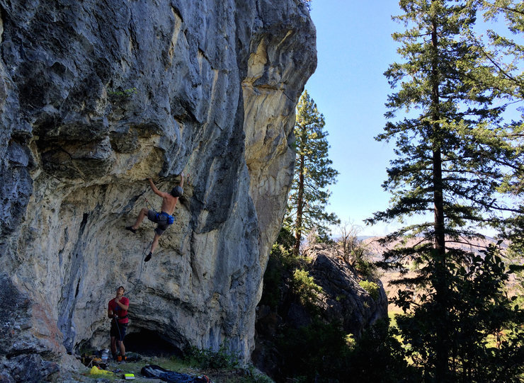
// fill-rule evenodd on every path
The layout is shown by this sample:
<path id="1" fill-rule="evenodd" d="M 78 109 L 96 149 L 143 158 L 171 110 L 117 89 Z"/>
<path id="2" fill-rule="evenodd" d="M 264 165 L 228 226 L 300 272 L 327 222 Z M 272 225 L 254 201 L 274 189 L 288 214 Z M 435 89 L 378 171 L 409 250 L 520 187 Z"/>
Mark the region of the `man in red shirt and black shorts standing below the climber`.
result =
<path id="1" fill-rule="evenodd" d="M 127 330 L 129 319 L 127 318 L 127 309 L 129 309 L 129 299 L 124 297 L 125 289 L 123 286 L 116 290 L 116 297 L 111 299 L 108 304 L 108 318 L 111 318 L 111 353 L 113 359 L 117 360 L 116 345 L 120 346 L 120 355 L 125 360 L 124 337 Z"/>

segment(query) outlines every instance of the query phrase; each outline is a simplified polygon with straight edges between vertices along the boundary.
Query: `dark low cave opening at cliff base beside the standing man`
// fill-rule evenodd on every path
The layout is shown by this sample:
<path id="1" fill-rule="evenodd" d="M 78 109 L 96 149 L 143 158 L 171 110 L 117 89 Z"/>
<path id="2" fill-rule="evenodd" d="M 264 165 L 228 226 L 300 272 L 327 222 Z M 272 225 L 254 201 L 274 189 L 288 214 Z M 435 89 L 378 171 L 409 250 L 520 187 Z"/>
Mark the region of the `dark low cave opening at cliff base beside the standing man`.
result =
<path id="1" fill-rule="evenodd" d="M 138 353 L 143 356 L 176 355 L 181 357 L 183 355 L 180 348 L 161 338 L 158 333 L 144 328 L 138 332 L 127 334 L 124 345 L 126 352 Z"/>

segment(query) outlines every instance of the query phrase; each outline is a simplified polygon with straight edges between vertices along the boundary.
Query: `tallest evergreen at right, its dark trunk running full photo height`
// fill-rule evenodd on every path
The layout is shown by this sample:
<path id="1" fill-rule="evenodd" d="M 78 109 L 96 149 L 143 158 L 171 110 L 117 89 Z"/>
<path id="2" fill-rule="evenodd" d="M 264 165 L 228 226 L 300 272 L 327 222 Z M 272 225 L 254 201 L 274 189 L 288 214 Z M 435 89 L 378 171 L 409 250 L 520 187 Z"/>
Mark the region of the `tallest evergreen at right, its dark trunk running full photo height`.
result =
<path id="1" fill-rule="evenodd" d="M 418 297 L 400 292 L 397 303 L 408 314 L 399 325 L 426 379 L 455 382 L 458 370 L 479 365 L 467 350 L 483 345 L 474 339 L 465 348 L 454 347 L 465 326 L 473 323 L 465 319 L 473 315 L 467 309 L 462 321 L 454 318 L 455 309 L 467 305 L 470 298 L 457 293 L 457 286 L 472 278 L 457 270 L 467 270 L 475 258 L 452 245 L 482 236 L 478 232 L 482 224 L 501 221 L 499 211 L 492 209 L 503 181 L 497 159 L 510 153 L 489 139 L 476 139 L 491 136 L 489 127 L 503 111 L 503 106 L 492 104 L 496 91 L 478 80 L 494 76 L 494 66 L 467 38 L 476 21 L 477 2 L 401 0 L 399 4 L 404 14 L 396 19 L 406 30 L 393 38 L 401 44 L 402 61 L 385 73 L 396 93 L 387 103 L 386 117 L 391 122 L 377 137 L 396 140 L 397 159 L 391 162 L 383 185 L 394 198 L 387 210 L 376 212 L 368 222 L 418 217 L 416 223 L 385 239 L 412 236 L 419 240 L 416 246 L 386 252 L 383 265 L 404 271 L 413 262 L 418 265 L 416 278 L 399 281 L 420 292 Z M 399 110 L 406 110 L 403 120 L 396 120 Z M 499 270 L 501 265 L 495 264 L 489 267 Z M 500 293 L 486 290 L 484 299 L 499 302 Z M 482 312 L 486 322 L 493 319 L 491 311 Z M 489 327 L 478 326 L 480 332 Z"/>

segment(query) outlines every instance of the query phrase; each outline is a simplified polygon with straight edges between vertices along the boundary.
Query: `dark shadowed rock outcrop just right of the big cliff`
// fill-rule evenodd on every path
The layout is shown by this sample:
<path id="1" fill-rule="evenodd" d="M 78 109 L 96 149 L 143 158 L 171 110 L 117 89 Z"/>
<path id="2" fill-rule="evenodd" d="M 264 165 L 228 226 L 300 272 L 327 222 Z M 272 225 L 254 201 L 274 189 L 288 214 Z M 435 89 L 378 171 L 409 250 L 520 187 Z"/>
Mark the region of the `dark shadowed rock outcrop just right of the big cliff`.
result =
<path id="1" fill-rule="evenodd" d="M 342 251 L 336 246 L 310 244 L 302 256 L 298 263 L 297 260 L 279 262 L 272 256 L 268 264 L 271 281 L 266 285 L 271 291 L 265 291 L 256 311 L 256 348 L 252 360 L 274 379 L 287 378 L 282 371 L 290 367 L 284 365 L 289 355 L 280 352 L 279 342 L 285 342 L 288 329 L 307 328 L 320 319 L 358 339 L 377 320 L 387 318 L 387 296 L 382 282 L 372 276 L 364 279 L 344 261 Z M 306 302 L 295 291 L 295 270 L 306 270 L 314 284 L 321 287 Z M 363 280 L 376 283 L 377 291 L 366 291 L 360 286 Z"/>

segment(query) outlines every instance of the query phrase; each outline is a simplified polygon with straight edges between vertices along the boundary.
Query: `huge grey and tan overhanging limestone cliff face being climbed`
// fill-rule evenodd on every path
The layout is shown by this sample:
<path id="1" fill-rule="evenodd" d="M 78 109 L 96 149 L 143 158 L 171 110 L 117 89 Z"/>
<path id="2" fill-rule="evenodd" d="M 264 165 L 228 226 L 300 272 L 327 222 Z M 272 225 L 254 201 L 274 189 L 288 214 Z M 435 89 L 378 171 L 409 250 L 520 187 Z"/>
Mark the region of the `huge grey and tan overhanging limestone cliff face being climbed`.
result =
<path id="1" fill-rule="evenodd" d="M 300 0 L 0 0 L 0 358 L 42 376 L 129 331 L 248 358 L 292 179 L 295 104 L 316 67 Z M 152 177 L 189 177 L 161 237 L 125 231 Z M 40 364 L 39 364 L 40 363 Z M 38 370 L 38 369 L 37 369 Z M 6 371 L 9 371 L 8 368 Z"/>

